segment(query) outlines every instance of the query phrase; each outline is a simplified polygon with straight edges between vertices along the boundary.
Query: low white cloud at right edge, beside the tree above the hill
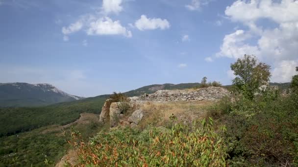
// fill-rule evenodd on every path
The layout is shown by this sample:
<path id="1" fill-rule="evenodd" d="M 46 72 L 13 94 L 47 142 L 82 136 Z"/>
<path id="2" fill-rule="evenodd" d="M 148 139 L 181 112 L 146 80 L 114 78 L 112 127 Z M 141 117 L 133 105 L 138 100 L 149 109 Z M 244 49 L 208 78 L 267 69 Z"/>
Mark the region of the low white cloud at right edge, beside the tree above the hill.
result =
<path id="1" fill-rule="evenodd" d="M 292 79 L 292 76 L 296 75 L 296 67 L 298 66 L 298 60 L 281 61 L 276 65 L 272 71 L 271 82 L 285 83 Z"/>

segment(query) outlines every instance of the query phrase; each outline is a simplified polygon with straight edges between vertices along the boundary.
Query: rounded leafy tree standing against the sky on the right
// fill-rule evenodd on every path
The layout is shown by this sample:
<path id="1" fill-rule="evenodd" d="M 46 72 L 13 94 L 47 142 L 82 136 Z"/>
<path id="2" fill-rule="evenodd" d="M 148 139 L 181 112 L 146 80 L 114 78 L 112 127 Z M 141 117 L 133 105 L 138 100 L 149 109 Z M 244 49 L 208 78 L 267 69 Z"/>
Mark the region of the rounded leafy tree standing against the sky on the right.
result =
<path id="1" fill-rule="evenodd" d="M 233 80 L 234 90 L 248 99 L 253 99 L 258 88 L 268 84 L 271 77 L 270 65 L 258 62 L 253 55 L 244 55 L 242 59 L 231 64 L 231 69 L 236 75 Z"/>

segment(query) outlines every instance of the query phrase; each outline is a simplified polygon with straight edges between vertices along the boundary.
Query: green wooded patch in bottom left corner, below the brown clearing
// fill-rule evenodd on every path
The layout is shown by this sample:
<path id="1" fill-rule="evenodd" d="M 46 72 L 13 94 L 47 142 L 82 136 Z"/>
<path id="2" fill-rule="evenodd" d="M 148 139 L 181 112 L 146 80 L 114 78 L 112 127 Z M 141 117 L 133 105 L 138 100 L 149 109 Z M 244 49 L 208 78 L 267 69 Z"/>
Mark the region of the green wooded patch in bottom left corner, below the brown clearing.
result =
<path id="1" fill-rule="evenodd" d="M 44 160 L 54 165 L 68 149 L 62 136 L 54 133 L 22 133 L 0 139 L 0 164 L 3 167 L 44 167 Z"/>

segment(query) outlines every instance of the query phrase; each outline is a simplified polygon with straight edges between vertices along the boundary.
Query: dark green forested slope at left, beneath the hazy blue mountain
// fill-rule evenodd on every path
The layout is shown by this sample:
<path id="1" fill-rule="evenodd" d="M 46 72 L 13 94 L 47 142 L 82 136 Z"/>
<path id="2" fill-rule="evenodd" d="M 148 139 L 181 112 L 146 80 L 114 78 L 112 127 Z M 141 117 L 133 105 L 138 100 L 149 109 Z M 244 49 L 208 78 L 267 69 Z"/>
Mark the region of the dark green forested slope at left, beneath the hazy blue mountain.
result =
<path id="1" fill-rule="evenodd" d="M 77 120 L 83 112 L 99 114 L 105 99 L 88 98 L 44 107 L 0 108 L 0 136 L 46 125 L 66 125 Z"/>

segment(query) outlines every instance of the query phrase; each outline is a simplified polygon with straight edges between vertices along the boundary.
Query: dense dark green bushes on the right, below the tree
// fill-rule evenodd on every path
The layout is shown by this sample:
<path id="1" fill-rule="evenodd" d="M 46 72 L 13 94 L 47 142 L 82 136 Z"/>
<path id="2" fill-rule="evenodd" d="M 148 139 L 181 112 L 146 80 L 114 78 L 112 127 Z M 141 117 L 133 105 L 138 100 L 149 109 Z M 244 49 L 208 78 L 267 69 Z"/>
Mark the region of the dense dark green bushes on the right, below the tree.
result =
<path id="1" fill-rule="evenodd" d="M 228 146 L 228 164 L 297 166 L 298 99 L 280 96 L 275 90 L 267 90 L 252 100 L 241 95 L 233 99 L 229 103 L 222 100 L 215 109 L 209 109 L 227 127 L 222 135 Z"/>

